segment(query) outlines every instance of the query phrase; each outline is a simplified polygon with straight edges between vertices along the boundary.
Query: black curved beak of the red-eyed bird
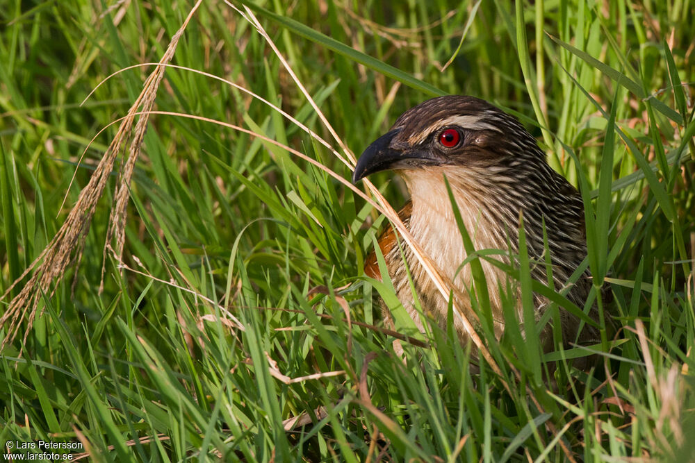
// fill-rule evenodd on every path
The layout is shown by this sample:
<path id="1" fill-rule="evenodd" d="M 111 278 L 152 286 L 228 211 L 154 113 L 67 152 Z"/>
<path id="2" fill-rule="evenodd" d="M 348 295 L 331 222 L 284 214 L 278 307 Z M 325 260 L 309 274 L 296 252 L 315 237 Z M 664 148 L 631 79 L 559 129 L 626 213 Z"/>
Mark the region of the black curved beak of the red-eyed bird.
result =
<path id="1" fill-rule="evenodd" d="M 372 144 L 367 146 L 364 153 L 359 157 L 357 165 L 352 174 L 352 183 L 357 183 L 375 172 L 397 169 L 402 167 L 416 167 L 418 165 L 431 164 L 434 161 L 432 154 L 427 150 L 420 149 L 397 149 L 391 146 L 391 140 L 403 129 L 394 128 L 389 133 L 385 133 L 377 138 Z"/>

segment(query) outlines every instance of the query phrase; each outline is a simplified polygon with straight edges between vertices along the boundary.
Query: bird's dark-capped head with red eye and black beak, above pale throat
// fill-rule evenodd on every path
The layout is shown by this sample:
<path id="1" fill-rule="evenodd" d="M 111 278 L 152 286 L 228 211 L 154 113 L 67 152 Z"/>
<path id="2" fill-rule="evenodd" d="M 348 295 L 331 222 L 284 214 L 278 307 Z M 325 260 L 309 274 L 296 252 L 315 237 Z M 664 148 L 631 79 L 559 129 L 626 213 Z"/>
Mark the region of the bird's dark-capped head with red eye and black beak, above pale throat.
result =
<path id="1" fill-rule="evenodd" d="M 406 177 L 434 167 L 445 173 L 455 167 L 498 171 L 544 158 L 514 117 L 473 96 L 439 96 L 404 112 L 391 131 L 370 144 L 352 181 L 383 170 Z"/>

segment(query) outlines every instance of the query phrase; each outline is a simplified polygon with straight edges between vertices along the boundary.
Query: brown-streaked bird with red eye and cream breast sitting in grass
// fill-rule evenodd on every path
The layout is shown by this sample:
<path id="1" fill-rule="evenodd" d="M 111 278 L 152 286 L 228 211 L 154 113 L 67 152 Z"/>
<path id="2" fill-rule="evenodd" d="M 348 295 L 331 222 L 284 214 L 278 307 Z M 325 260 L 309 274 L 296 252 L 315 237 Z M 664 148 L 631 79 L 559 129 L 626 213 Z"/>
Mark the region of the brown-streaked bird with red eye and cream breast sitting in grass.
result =
<path id="1" fill-rule="evenodd" d="M 472 312 L 469 291 L 473 274 L 471 265 L 464 264 L 467 253 L 445 180 L 477 251 L 497 249 L 500 252 L 494 258 L 518 264 L 515 256 L 523 224 L 532 278 L 548 285 L 547 249 L 555 290 L 569 288 L 566 298 L 584 307 L 592 286 L 588 266 L 575 283 L 570 282 L 587 256 L 582 196 L 548 165 L 546 153 L 516 117 L 474 96 L 447 95 L 424 101 L 404 112 L 391 130 L 364 150 L 352 181 L 357 183 L 385 170 L 403 178 L 410 200 L 399 217 L 436 270 L 450 282 L 452 295 L 464 313 Z M 377 243 L 395 293 L 418 328 L 423 331 L 413 287 L 422 312 L 445 329 L 448 298 L 439 292 L 414 251 L 402 244 L 391 226 Z M 508 274 L 489 260 L 480 262 L 496 337 L 505 332 L 504 304 L 510 300 L 505 289 L 510 287 L 513 313 L 525 335 L 518 285 L 515 287 Z M 364 273 L 384 280 L 375 251 L 368 255 Z M 533 303 L 535 321 L 539 321 L 550 301 L 534 293 Z M 382 308 L 388 320 L 385 304 Z M 595 305 L 588 315 L 598 322 Z M 575 314 L 562 307 L 559 323 L 566 346 L 600 342 L 598 323 L 580 323 Z M 538 333 L 546 352 L 553 350 L 552 325 L 553 317 Z M 452 326 L 461 342 L 466 342 L 468 332 L 460 319 L 455 318 Z"/>

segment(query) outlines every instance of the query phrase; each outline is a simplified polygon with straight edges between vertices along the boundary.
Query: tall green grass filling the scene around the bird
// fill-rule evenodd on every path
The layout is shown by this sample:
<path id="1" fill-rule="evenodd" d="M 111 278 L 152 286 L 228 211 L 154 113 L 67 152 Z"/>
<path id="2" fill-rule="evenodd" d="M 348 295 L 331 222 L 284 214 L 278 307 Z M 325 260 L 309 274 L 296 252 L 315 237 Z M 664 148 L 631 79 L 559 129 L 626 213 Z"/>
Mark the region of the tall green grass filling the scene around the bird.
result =
<path id="1" fill-rule="evenodd" d="M 0 7 L 3 290 L 63 224 L 118 125 L 90 140 L 126 115 L 154 67 L 117 74 L 79 103 L 113 72 L 160 60 L 193 6 L 106 3 L 116 6 Z M 82 442 L 74 455 L 97 462 L 692 460 L 695 6 L 392 3 L 249 6 L 358 155 L 436 94 L 480 96 L 521 119 L 582 190 L 595 277 L 587 304 L 598 298 L 618 328 L 594 346 L 596 369 L 562 362 L 586 355 L 579 349 L 549 353 L 561 362 L 548 390 L 539 346 L 511 331 L 501 342 L 481 332 L 499 374 L 471 371 L 469 349 L 436 329 L 409 332 L 425 346 L 402 340 L 400 358 L 373 296 L 403 332 L 412 323 L 388 283 L 361 276 L 385 223 L 371 205 L 260 137 L 152 115 L 126 268 L 107 255 L 98 294 L 114 175 L 79 266 L 42 295 L 26 344 L 24 323 L 0 354 L 0 441 Z M 225 3 L 202 3 L 172 64 L 262 96 L 338 149 L 263 37 Z M 155 109 L 243 126 L 350 178 L 332 151 L 222 81 L 167 69 Z M 389 178 L 375 184 L 398 208 L 404 186 Z M 551 292 L 528 267 L 508 271 L 527 301 L 531 289 Z"/>

